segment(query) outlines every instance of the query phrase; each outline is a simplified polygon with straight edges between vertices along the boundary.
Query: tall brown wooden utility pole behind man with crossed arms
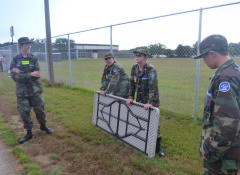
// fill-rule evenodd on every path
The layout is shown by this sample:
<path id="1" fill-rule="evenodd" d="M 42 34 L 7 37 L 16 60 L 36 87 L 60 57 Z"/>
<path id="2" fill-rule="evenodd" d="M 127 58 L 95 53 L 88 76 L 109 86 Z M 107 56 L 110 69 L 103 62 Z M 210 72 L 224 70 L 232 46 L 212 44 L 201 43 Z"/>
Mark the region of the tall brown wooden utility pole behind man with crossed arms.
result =
<path id="1" fill-rule="evenodd" d="M 54 84 L 54 71 L 53 71 L 53 59 L 52 59 L 52 41 L 51 41 L 51 27 L 50 27 L 50 15 L 49 15 L 49 2 L 44 0 L 45 5 L 45 26 L 46 26 L 46 48 L 47 48 L 47 62 L 48 62 L 48 74 L 51 85 Z"/>

